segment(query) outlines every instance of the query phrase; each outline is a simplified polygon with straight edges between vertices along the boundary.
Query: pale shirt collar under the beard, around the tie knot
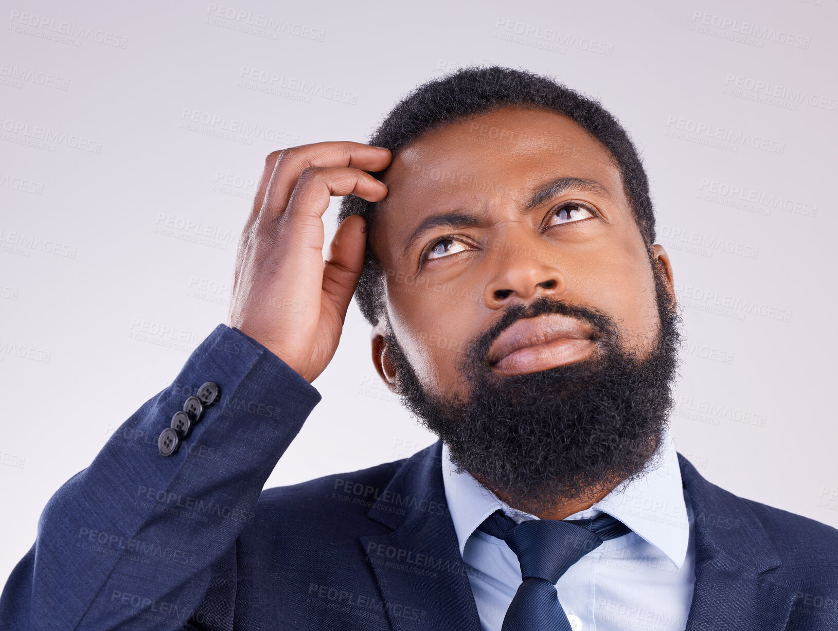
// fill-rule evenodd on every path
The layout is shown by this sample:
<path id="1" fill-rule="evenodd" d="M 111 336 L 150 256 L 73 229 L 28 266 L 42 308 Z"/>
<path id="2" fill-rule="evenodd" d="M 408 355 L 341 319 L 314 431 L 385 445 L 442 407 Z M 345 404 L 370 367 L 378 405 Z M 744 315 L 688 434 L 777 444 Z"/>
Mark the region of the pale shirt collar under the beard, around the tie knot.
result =
<path id="1" fill-rule="evenodd" d="M 581 520 L 594 517 L 600 512 L 608 513 L 658 548 L 680 568 L 684 564 L 690 540 L 690 523 L 675 445 L 667 430 L 663 438 L 650 461 L 649 471 L 628 484 L 618 484 L 591 508 L 569 515 L 566 519 Z M 442 482 L 461 555 L 474 530 L 495 510 L 503 510 L 518 523 L 538 519 L 535 515 L 506 504 L 478 483 L 468 471 L 456 473 L 456 465 L 451 462 L 448 446 L 444 442 Z"/>

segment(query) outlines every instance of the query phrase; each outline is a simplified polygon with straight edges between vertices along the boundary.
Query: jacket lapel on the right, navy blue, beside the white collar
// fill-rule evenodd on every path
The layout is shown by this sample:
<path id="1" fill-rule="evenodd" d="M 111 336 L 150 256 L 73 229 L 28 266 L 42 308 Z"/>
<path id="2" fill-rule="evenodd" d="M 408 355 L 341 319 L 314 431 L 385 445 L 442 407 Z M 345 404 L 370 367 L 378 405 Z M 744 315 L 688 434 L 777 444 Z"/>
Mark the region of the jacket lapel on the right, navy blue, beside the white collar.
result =
<path id="1" fill-rule="evenodd" d="M 794 592 L 768 578 L 780 565 L 763 526 L 742 499 L 702 478 L 680 453 L 696 532 L 696 584 L 687 631 L 781 631 Z"/>

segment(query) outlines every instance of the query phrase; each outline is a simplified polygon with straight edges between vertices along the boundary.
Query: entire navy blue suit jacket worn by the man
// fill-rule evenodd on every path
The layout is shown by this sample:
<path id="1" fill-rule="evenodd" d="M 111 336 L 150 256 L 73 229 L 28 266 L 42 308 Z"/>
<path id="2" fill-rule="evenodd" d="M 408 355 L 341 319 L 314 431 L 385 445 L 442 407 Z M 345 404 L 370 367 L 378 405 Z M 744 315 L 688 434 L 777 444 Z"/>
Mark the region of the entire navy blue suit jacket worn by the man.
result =
<path id="1" fill-rule="evenodd" d="M 158 434 L 207 380 L 220 402 L 163 457 Z M 0 627 L 479 631 L 440 442 L 262 491 L 318 401 L 276 355 L 219 325 L 49 500 Z M 696 528 L 686 628 L 838 629 L 838 530 L 730 494 L 678 458 Z"/>

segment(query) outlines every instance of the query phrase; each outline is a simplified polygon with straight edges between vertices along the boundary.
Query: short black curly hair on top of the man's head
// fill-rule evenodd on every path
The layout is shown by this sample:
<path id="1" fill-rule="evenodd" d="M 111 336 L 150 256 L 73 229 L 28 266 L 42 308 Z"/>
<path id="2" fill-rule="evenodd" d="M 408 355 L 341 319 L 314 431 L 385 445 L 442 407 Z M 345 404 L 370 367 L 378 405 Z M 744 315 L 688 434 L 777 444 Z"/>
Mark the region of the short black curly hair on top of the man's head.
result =
<path id="1" fill-rule="evenodd" d="M 654 243 L 654 209 L 649 180 L 629 134 L 598 101 L 558 83 L 551 77 L 502 66 L 469 65 L 419 85 L 403 98 L 370 137 L 370 144 L 387 147 L 393 158 L 426 132 L 467 116 L 507 106 L 535 107 L 559 112 L 577 122 L 608 149 L 619 168 L 623 190 L 647 249 Z M 381 178 L 386 173 L 372 173 Z M 349 215 L 361 215 L 372 230 L 375 202 L 355 195 L 341 201 L 338 225 Z M 375 326 L 385 312 L 385 273 L 366 249 L 355 300 L 367 322 Z"/>

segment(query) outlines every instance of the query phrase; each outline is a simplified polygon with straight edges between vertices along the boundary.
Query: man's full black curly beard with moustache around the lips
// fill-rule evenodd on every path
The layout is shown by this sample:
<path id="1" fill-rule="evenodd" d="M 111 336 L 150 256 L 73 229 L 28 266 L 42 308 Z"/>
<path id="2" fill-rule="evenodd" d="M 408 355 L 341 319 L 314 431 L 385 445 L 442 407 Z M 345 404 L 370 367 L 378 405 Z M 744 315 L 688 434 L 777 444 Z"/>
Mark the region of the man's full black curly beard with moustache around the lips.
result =
<path id="1" fill-rule="evenodd" d="M 507 504 L 531 515 L 629 484 L 654 468 L 652 458 L 674 404 L 680 315 L 665 268 L 649 251 L 660 317 L 652 349 L 623 349 L 606 313 L 541 296 L 512 304 L 478 335 L 459 365 L 466 396 L 434 396 L 416 377 L 388 326 L 385 341 L 402 402 L 445 442 L 457 472 L 471 473 Z M 525 375 L 495 374 L 489 347 L 520 318 L 560 313 L 594 331 L 585 359 Z M 646 355 L 644 357 L 644 354 Z"/>

